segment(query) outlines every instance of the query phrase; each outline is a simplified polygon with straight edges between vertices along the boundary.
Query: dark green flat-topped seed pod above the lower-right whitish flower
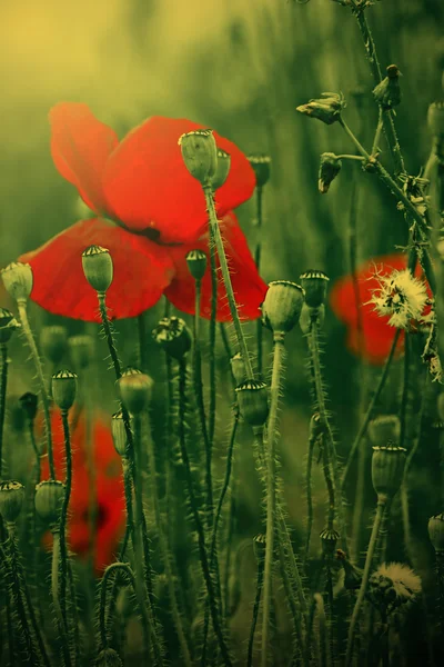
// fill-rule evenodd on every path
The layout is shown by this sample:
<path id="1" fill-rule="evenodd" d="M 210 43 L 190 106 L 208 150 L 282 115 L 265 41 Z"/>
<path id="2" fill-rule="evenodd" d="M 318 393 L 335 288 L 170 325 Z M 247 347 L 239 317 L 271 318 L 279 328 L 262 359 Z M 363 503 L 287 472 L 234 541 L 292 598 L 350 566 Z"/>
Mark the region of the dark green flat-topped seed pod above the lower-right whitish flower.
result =
<path id="1" fill-rule="evenodd" d="M 373 447 L 372 481 L 379 501 L 386 502 L 396 495 L 403 478 L 405 452 L 404 447 L 393 445 Z"/>

